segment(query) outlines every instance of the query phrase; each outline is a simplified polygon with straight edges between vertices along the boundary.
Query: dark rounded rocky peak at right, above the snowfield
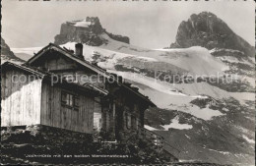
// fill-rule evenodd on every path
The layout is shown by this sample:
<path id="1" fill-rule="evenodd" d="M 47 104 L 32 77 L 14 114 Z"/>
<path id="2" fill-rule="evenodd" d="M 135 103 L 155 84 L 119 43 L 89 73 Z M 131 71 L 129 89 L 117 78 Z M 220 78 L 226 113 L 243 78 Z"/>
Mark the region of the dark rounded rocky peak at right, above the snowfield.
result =
<path id="1" fill-rule="evenodd" d="M 254 47 L 235 34 L 223 20 L 210 12 L 193 14 L 183 21 L 177 30 L 176 41 L 171 48 L 203 46 L 212 49 L 238 50 L 249 57 L 254 56 Z"/>

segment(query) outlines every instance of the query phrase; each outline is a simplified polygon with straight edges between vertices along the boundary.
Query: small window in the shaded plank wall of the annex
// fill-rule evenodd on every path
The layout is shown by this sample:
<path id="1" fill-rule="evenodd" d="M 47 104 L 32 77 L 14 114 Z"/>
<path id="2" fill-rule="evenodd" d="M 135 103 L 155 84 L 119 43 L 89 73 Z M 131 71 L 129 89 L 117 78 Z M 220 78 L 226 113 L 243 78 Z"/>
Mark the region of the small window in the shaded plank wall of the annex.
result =
<path id="1" fill-rule="evenodd" d="M 79 107 L 79 97 L 72 93 L 62 91 L 61 92 L 61 103 L 66 106 L 78 108 Z"/>

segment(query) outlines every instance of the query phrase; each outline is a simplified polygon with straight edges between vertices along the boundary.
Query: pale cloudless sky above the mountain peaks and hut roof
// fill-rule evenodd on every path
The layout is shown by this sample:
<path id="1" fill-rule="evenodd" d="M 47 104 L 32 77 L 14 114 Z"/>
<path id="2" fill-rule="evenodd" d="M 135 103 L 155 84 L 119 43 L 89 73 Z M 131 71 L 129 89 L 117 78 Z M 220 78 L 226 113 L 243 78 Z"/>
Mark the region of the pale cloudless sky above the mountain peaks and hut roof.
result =
<path id="1" fill-rule="evenodd" d="M 98 17 L 108 32 L 129 36 L 130 43 L 162 48 L 192 14 L 212 12 L 254 45 L 254 1 L 66 1 L 2 0 L 2 36 L 12 48 L 45 46 L 67 21 Z"/>

